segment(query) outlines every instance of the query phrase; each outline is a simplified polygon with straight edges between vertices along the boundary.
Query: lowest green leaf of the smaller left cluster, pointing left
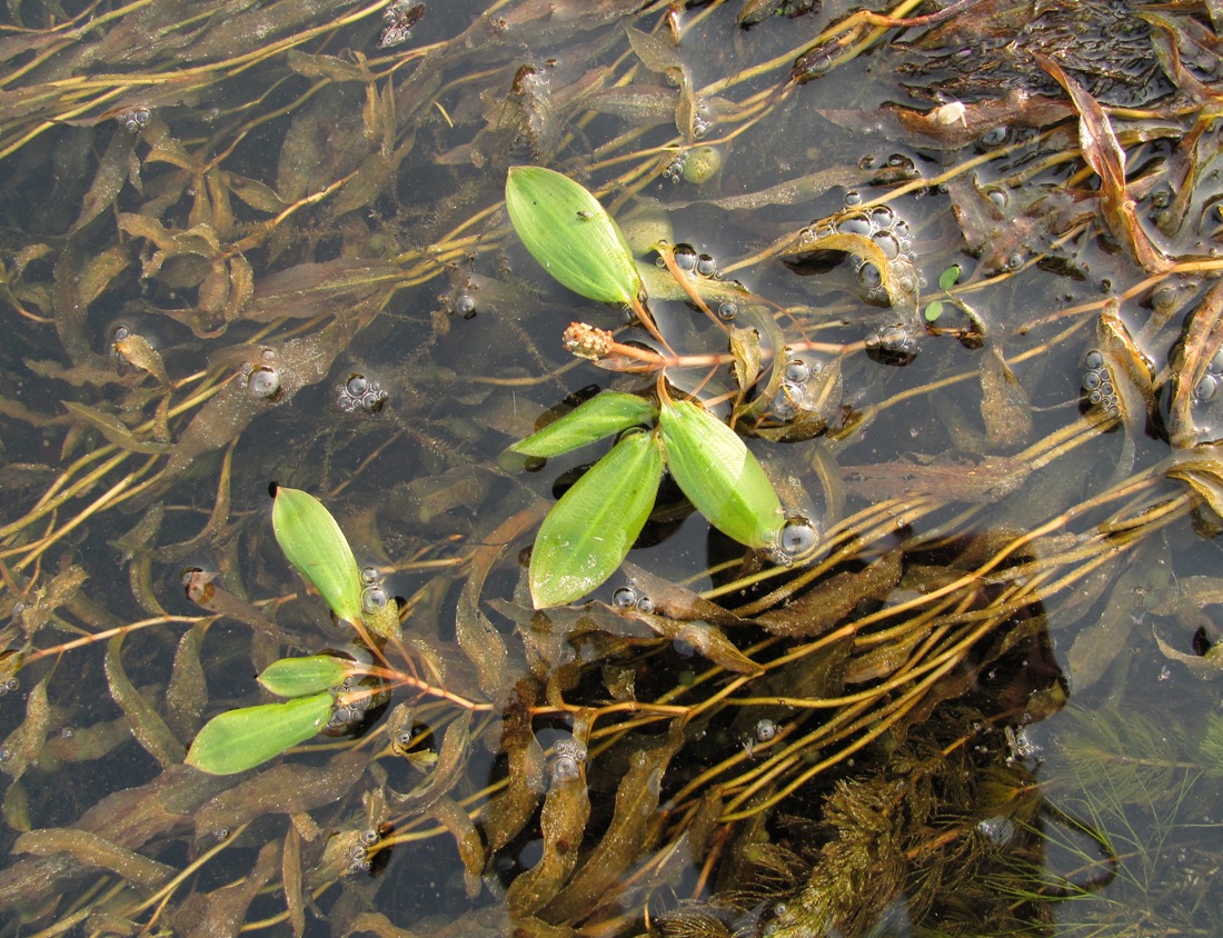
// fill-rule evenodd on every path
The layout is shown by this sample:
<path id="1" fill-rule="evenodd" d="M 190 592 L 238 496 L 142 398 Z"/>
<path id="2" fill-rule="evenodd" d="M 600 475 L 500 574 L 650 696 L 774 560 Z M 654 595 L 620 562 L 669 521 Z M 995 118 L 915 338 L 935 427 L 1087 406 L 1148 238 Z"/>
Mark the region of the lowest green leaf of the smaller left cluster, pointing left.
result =
<path id="1" fill-rule="evenodd" d="M 246 772 L 305 742 L 330 719 L 331 695 L 327 691 L 229 711 L 204 724 L 187 751 L 186 763 L 212 775 Z"/>

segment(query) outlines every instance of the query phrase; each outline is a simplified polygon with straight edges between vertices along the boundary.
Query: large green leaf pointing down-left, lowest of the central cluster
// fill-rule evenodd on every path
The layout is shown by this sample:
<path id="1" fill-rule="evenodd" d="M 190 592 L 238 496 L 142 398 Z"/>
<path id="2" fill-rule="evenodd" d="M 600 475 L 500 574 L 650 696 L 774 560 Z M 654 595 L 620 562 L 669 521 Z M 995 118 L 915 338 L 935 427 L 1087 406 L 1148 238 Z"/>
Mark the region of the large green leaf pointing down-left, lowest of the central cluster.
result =
<path id="1" fill-rule="evenodd" d="M 531 552 L 536 609 L 571 603 L 615 572 L 645 527 L 662 481 L 657 434 L 634 433 L 561 497 Z"/>

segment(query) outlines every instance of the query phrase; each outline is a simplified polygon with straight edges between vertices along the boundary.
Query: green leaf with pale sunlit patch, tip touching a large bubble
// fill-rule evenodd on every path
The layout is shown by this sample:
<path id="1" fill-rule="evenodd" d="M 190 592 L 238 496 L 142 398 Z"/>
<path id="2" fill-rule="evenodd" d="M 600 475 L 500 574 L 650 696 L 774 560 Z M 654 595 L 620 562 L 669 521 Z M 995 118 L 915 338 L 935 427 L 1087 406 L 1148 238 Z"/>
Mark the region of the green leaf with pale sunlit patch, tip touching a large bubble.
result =
<path id="1" fill-rule="evenodd" d="M 781 503 L 739 434 L 691 401 L 664 405 L 658 423 L 668 468 L 709 523 L 748 547 L 773 543 Z"/>

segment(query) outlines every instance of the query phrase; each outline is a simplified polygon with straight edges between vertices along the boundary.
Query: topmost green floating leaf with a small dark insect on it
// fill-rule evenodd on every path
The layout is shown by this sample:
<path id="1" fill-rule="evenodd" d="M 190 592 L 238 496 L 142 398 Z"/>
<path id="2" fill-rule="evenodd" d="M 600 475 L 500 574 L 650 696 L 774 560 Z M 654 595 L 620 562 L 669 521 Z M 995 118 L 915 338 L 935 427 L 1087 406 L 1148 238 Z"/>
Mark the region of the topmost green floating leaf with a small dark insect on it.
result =
<path id="1" fill-rule="evenodd" d="M 543 166 L 511 166 L 505 208 L 527 251 L 575 294 L 631 303 L 642 291 L 624 235 L 580 183 Z"/>

